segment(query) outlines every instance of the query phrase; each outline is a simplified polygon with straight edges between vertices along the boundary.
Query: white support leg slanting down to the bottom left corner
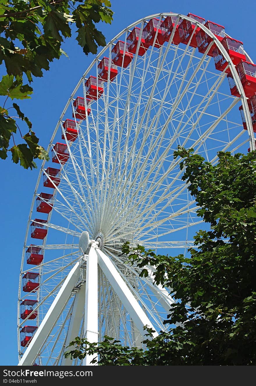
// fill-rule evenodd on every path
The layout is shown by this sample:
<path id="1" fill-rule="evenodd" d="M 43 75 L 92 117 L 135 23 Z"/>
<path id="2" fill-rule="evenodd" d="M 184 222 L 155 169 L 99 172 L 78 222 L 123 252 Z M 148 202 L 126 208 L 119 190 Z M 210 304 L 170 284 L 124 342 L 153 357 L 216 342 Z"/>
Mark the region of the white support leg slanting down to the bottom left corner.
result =
<path id="1" fill-rule="evenodd" d="M 52 302 L 51 307 L 47 311 L 44 319 L 42 320 L 42 323 L 37 328 L 37 331 L 35 332 L 35 335 L 33 336 L 23 357 L 20 359 L 18 366 L 32 366 L 34 364 L 37 354 L 40 352 L 45 339 L 47 339 L 49 334 L 51 334 L 51 330 L 56 322 L 56 319 L 61 313 L 61 310 L 64 307 L 67 299 L 71 295 L 71 292 L 74 289 L 79 276 L 80 263 L 77 262 L 67 275 L 67 278 L 62 284 L 56 298 Z"/>

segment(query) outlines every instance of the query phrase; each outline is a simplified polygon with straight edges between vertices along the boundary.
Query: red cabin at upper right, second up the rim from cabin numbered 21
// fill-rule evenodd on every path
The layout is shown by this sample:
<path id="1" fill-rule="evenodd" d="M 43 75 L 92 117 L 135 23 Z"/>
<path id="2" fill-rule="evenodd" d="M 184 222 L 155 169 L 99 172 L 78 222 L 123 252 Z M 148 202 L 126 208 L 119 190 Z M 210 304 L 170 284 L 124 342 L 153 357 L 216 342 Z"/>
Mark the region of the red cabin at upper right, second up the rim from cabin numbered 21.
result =
<path id="1" fill-rule="evenodd" d="M 207 20 L 207 22 L 205 22 L 205 27 L 207 29 L 209 29 L 209 31 L 212 32 L 212 34 L 214 34 L 214 36 L 217 37 L 217 39 L 222 42 L 222 40 L 224 39 L 224 37 L 226 36 L 225 35 L 225 28 L 223 27 L 223 25 L 220 25 L 220 24 L 217 24 L 217 23 L 213 23 L 213 22 L 210 22 L 209 20 Z M 197 47 L 198 47 L 198 51 L 201 52 L 202 54 L 204 54 L 204 52 L 207 50 L 207 48 L 209 47 L 209 45 L 213 42 L 213 39 L 211 36 L 209 36 L 206 32 L 204 32 L 202 29 L 200 29 L 199 32 L 197 32 L 196 34 L 196 39 L 197 39 Z M 211 48 L 209 49 L 209 51 L 207 52 L 207 55 L 208 56 L 212 56 L 213 57 L 213 51 L 214 49 L 216 49 L 217 46 L 216 46 L 216 43 L 213 43 Z"/>

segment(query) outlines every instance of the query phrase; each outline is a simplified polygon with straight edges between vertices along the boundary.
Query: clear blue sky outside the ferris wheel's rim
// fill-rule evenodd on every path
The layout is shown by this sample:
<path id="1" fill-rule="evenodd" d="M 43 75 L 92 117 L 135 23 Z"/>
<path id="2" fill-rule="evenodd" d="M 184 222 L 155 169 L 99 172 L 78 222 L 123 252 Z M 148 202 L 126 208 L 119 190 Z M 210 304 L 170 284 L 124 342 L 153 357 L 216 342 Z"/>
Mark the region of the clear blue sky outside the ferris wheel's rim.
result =
<path id="1" fill-rule="evenodd" d="M 114 11 L 111 25 L 99 24 L 98 29 L 110 41 L 121 30 L 141 18 L 160 12 L 177 12 L 187 15 L 189 12 L 224 25 L 230 36 L 244 42 L 244 49 L 256 62 L 254 15 L 256 5 L 249 0 L 242 5 L 237 0 L 209 2 L 197 0 L 152 1 L 130 0 L 120 2 L 112 0 Z M 50 71 L 43 78 L 33 83 L 32 99 L 22 103 L 22 111 L 33 124 L 40 144 L 47 148 L 52 132 L 62 113 L 66 102 L 86 68 L 94 59 L 85 56 L 74 38 L 69 39 L 63 49 L 65 56 L 51 64 Z M 3 73 L 2 68 L 2 73 Z M 24 128 L 25 133 L 25 128 Z M 25 230 L 29 216 L 32 196 L 40 169 L 24 170 L 12 163 L 11 159 L 0 161 L 1 184 L 1 245 L 2 245 L 2 299 L 1 299 L 1 343 L 0 365 L 16 365 L 17 356 L 17 297 L 19 285 L 20 262 L 24 244 Z"/>

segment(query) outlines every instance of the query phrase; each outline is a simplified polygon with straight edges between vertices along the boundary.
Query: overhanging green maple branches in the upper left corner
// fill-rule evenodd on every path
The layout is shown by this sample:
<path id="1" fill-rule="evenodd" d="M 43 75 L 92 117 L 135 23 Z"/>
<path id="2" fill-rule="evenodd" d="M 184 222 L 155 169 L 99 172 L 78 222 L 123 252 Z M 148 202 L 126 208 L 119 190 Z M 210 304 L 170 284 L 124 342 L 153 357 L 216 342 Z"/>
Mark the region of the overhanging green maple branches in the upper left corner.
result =
<path id="1" fill-rule="evenodd" d="M 20 161 L 25 169 L 36 168 L 36 158 L 49 159 L 38 144 L 29 118 L 11 101 L 31 98 L 33 78 L 42 77 L 50 62 L 66 55 L 61 44 L 71 37 L 72 25 L 86 55 L 96 54 L 98 46 L 105 46 L 105 38 L 95 24 L 111 23 L 110 7 L 109 0 L 0 0 L 0 64 L 6 68 L 0 82 L 0 158 L 6 159 L 11 152 L 13 162 Z M 19 120 L 28 126 L 25 135 Z M 17 130 L 24 143 L 15 143 Z"/>

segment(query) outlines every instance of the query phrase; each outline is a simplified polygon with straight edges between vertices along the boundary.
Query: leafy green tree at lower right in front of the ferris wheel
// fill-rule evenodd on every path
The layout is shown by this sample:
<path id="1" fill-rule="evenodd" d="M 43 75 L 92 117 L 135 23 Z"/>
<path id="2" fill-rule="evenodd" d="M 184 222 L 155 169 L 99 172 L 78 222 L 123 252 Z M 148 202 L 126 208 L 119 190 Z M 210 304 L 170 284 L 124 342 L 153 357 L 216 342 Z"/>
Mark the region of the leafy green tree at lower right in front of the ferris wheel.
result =
<path id="1" fill-rule="evenodd" d="M 193 149 L 179 147 L 174 156 L 182 158 L 183 180 L 209 230 L 194 236 L 189 258 L 123 245 L 141 276 L 155 266 L 155 282 L 175 289 L 179 302 L 165 320 L 170 329 L 155 339 L 148 331 L 146 350 L 109 337 L 98 346 L 76 338 L 66 356 L 83 358 L 89 350 L 100 365 L 256 364 L 256 151 L 219 152 L 215 166 Z"/>

